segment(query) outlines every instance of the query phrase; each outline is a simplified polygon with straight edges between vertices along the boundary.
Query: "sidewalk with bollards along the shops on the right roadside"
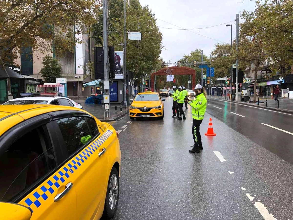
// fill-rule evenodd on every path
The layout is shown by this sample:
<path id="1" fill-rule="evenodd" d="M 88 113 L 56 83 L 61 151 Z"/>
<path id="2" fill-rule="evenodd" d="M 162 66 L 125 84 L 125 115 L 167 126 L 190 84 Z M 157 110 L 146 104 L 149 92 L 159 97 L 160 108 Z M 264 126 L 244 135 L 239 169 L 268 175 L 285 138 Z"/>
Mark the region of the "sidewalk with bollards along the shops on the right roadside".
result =
<path id="1" fill-rule="evenodd" d="M 230 101 L 229 97 L 227 97 L 226 99 L 223 99 L 224 97 L 222 96 L 212 96 L 212 99 L 221 99 L 221 100 L 225 100 L 225 101 Z M 257 101 L 258 96 L 256 97 L 256 101 Z M 293 113 L 293 99 L 279 99 L 279 109 L 277 108 L 278 104 L 276 101 L 274 101 L 274 98 L 272 99 L 272 97 L 269 96 L 268 98 L 268 106 L 265 106 L 266 103 L 266 97 L 263 98 L 263 96 L 259 96 L 259 105 L 257 105 L 256 103 L 252 103 L 253 101 L 253 97 L 251 97 L 251 103 L 249 104 L 249 102 L 245 102 L 245 101 L 240 101 L 240 95 L 238 96 L 238 103 L 241 104 L 246 104 L 246 105 L 252 105 L 252 106 L 256 106 L 256 107 L 260 107 L 260 108 L 265 108 L 265 109 L 271 109 L 271 110 L 275 110 L 275 111 L 282 111 L 282 112 L 287 112 L 287 113 Z M 234 101 L 231 101 L 234 102 Z"/>

